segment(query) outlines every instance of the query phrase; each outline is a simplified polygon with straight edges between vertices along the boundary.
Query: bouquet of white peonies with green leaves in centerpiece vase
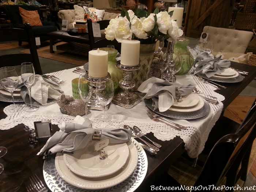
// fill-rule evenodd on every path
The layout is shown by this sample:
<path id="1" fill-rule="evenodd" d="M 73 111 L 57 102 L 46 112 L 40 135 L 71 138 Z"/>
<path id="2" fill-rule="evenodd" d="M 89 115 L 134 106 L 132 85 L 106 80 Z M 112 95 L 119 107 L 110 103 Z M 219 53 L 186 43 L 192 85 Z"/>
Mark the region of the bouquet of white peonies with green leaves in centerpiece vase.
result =
<path id="1" fill-rule="evenodd" d="M 171 19 L 172 14 L 173 11 L 159 12 L 158 8 L 151 14 L 140 9 L 135 12 L 123 9 L 120 17 L 110 20 L 105 29 L 106 39 L 121 42 L 123 39 L 152 39 L 163 36 L 168 41 L 176 42 L 183 31 Z"/>

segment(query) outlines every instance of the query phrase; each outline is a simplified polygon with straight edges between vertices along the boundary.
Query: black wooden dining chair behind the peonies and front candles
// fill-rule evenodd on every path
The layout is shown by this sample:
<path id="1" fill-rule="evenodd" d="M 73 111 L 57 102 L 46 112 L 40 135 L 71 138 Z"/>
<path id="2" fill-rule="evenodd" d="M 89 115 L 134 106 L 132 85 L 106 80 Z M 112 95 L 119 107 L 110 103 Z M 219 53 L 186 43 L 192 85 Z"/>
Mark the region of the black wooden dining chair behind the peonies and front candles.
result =
<path id="1" fill-rule="evenodd" d="M 114 45 L 115 49 L 118 50 L 118 52 L 121 52 L 121 43 L 118 43 L 116 39 L 113 41 L 109 41 L 105 38 L 104 31 L 108 27 L 110 20 L 100 20 L 97 23 L 99 23 L 99 27 L 101 30 L 101 37 L 94 37 L 93 36 L 93 24 L 91 19 L 87 19 L 87 27 L 88 27 L 88 35 L 90 40 L 90 46 L 91 49 L 95 48 L 103 48 L 107 45 Z"/>

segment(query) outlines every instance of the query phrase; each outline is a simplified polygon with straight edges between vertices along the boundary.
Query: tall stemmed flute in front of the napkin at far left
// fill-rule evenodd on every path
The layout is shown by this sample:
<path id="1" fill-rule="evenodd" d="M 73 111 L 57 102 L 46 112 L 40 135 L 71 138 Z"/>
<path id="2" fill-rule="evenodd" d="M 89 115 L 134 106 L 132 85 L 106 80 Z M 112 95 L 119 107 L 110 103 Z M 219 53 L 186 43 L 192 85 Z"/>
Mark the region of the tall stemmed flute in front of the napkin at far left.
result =
<path id="1" fill-rule="evenodd" d="M 35 82 L 35 70 L 33 67 L 33 63 L 26 62 L 21 64 L 21 79 L 24 85 L 27 87 L 27 90 L 29 91 L 30 106 L 27 106 L 25 108 L 25 111 L 34 112 L 38 110 L 38 107 L 32 105 L 31 99 L 31 87 Z"/>

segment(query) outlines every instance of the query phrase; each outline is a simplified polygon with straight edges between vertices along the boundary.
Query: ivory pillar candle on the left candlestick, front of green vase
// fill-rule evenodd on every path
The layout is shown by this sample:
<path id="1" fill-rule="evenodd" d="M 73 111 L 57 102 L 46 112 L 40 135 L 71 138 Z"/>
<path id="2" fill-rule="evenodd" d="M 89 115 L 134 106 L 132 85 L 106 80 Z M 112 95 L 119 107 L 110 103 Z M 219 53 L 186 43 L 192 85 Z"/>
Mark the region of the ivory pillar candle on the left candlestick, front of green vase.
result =
<path id="1" fill-rule="evenodd" d="M 99 49 L 89 51 L 89 76 L 94 78 L 108 76 L 108 52 Z"/>

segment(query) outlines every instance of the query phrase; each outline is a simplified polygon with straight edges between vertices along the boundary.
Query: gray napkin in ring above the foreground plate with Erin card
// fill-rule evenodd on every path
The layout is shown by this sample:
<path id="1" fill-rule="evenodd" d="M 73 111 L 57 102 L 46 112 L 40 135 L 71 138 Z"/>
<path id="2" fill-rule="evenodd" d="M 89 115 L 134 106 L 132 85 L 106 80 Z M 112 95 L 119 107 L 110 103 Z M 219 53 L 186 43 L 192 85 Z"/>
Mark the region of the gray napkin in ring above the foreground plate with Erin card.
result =
<path id="1" fill-rule="evenodd" d="M 62 123 L 60 131 L 50 137 L 37 155 L 55 154 L 60 151 L 72 152 L 86 148 L 92 141 L 95 129 L 91 121 L 86 118 L 82 125 L 76 123 Z M 101 139 L 110 138 L 110 143 L 126 143 L 131 139 L 132 132 L 127 129 L 102 129 Z"/>

